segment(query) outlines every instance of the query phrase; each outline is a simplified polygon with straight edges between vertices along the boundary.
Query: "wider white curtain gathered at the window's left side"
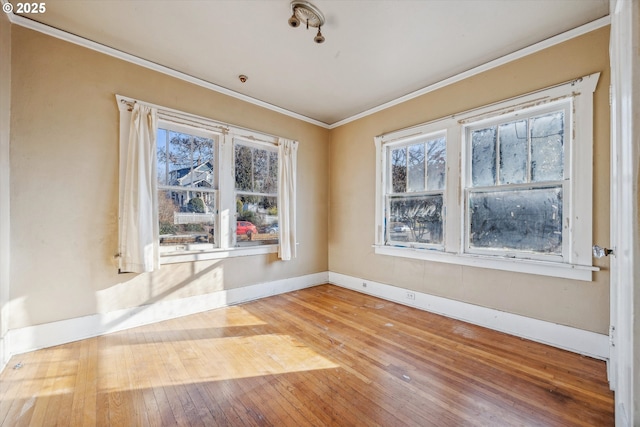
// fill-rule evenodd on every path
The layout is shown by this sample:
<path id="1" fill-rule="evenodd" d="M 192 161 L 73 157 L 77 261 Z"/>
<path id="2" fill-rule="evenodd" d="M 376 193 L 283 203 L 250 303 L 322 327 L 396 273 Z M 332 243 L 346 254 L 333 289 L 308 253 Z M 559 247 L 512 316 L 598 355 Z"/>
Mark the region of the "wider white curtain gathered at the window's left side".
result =
<path id="1" fill-rule="evenodd" d="M 120 218 L 120 271 L 144 273 L 160 266 L 155 108 L 135 104 L 131 113 Z"/>

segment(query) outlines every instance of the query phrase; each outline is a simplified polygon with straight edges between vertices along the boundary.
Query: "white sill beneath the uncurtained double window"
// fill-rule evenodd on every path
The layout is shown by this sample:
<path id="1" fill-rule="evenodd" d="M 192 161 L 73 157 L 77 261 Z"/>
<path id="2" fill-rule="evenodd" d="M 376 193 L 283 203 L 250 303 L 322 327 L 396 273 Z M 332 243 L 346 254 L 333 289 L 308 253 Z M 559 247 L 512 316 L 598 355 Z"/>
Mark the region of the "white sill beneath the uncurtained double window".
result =
<path id="1" fill-rule="evenodd" d="M 515 259 L 484 255 L 453 254 L 431 249 L 416 249 L 407 247 L 381 245 L 374 245 L 373 247 L 377 255 L 413 258 L 424 261 L 434 261 L 480 268 L 491 268 L 495 270 L 537 274 L 541 276 L 560 277 L 588 282 L 593 280 L 592 272 L 600 270 L 599 267 L 590 265 L 574 265 L 559 262 Z"/>

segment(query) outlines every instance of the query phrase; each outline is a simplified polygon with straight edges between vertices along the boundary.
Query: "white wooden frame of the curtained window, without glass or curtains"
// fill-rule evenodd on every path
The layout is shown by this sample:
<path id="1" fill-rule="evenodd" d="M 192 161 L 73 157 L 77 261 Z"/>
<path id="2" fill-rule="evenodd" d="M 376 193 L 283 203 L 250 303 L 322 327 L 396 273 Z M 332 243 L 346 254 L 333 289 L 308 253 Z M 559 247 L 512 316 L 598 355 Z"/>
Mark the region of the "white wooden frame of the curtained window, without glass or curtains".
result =
<path id="1" fill-rule="evenodd" d="M 131 107 L 137 101 L 116 95 L 120 110 L 120 140 L 128 138 Z M 158 109 L 158 128 L 179 132 L 215 137 L 217 156 L 217 217 L 215 220 L 216 245 L 201 243 L 189 245 L 163 245 L 160 247 L 160 264 L 191 262 L 201 260 L 224 259 L 237 256 L 262 255 L 278 252 L 278 244 L 236 247 L 236 199 L 234 173 L 233 140 L 250 141 L 253 146 L 277 150 L 279 137 L 261 132 L 217 122 L 201 116 L 173 110 L 159 105 L 144 103 Z M 126 147 L 120 146 L 120 162 L 123 162 Z M 121 170 L 123 168 L 121 167 Z M 122 181 L 122 180 L 121 180 Z M 120 191 L 122 194 L 122 189 Z"/>

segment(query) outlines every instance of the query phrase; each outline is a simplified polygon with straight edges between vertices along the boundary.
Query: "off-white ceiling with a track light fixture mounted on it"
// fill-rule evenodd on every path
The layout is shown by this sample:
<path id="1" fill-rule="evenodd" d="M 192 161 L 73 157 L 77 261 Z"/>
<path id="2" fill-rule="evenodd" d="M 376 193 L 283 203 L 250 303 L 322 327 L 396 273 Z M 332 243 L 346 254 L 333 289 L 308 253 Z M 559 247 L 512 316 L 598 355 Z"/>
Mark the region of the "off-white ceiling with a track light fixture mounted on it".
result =
<path id="1" fill-rule="evenodd" d="M 330 126 L 609 13 L 608 0 L 312 3 L 323 44 L 288 26 L 290 0 L 47 0 L 24 17 Z"/>

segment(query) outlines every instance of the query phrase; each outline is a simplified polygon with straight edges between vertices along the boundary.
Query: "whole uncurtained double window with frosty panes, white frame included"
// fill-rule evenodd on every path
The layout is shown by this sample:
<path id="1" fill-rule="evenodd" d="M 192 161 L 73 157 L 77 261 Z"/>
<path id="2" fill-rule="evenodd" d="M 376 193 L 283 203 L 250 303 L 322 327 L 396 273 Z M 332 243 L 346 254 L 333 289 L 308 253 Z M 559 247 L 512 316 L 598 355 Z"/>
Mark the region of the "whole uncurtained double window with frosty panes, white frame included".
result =
<path id="1" fill-rule="evenodd" d="M 591 280 L 598 77 L 376 137 L 376 253 Z"/>

